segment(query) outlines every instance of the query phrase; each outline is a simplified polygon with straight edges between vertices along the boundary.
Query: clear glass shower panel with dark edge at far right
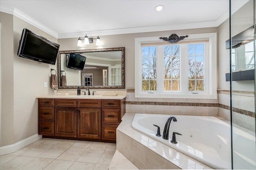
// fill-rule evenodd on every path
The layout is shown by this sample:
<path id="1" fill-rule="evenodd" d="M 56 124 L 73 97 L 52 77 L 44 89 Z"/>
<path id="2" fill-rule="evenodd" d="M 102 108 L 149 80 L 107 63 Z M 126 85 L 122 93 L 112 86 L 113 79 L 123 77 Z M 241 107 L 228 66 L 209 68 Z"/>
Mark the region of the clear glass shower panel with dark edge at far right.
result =
<path id="1" fill-rule="evenodd" d="M 256 169 L 254 3 L 230 0 L 232 169 Z"/>

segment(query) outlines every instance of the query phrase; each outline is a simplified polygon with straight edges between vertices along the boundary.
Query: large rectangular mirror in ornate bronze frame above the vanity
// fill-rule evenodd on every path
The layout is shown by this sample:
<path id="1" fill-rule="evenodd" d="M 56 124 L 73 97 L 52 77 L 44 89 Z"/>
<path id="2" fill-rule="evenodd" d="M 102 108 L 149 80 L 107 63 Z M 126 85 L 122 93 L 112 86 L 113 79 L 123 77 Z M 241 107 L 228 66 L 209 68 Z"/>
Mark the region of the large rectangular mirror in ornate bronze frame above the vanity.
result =
<path id="1" fill-rule="evenodd" d="M 124 47 L 59 51 L 60 89 L 124 88 Z"/>

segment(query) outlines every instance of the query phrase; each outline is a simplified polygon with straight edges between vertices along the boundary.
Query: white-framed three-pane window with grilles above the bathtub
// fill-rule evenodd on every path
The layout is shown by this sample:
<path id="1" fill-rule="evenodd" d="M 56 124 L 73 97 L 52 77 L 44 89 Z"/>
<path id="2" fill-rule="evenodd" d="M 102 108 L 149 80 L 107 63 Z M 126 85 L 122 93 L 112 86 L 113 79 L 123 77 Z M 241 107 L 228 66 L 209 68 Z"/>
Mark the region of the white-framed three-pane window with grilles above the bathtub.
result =
<path id="1" fill-rule="evenodd" d="M 216 99 L 216 33 L 135 39 L 135 97 Z"/>

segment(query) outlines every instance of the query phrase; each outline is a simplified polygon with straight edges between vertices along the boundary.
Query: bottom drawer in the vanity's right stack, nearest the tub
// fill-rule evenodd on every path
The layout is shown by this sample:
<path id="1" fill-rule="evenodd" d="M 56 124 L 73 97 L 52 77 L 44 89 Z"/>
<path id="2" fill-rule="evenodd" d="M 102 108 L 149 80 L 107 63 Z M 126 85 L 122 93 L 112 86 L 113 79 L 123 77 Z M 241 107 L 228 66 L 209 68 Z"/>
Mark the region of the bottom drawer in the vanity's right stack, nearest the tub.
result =
<path id="1" fill-rule="evenodd" d="M 102 125 L 102 139 L 116 140 L 116 128 L 118 125 Z"/>

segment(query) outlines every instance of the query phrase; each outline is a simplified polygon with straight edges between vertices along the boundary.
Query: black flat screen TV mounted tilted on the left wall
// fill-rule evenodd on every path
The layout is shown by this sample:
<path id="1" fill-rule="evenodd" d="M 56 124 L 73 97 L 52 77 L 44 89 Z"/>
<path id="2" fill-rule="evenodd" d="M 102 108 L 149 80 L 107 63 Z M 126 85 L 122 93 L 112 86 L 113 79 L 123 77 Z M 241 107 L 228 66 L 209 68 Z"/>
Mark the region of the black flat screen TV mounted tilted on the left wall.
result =
<path id="1" fill-rule="evenodd" d="M 55 65 L 60 45 L 26 28 L 20 38 L 18 56 Z"/>

